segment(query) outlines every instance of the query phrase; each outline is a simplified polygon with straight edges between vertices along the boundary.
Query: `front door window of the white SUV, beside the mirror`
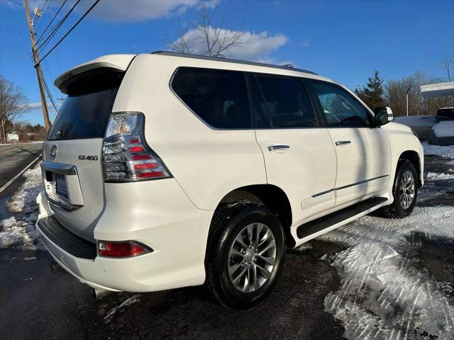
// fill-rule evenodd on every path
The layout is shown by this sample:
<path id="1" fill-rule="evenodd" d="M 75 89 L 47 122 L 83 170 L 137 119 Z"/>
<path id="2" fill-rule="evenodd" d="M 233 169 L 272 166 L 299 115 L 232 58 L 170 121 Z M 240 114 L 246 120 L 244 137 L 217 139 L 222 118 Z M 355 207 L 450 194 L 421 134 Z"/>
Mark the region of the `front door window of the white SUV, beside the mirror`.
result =
<path id="1" fill-rule="evenodd" d="M 312 86 L 329 126 L 361 128 L 369 126 L 367 111 L 347 91 L 330 84 L 313 82 Z"/>

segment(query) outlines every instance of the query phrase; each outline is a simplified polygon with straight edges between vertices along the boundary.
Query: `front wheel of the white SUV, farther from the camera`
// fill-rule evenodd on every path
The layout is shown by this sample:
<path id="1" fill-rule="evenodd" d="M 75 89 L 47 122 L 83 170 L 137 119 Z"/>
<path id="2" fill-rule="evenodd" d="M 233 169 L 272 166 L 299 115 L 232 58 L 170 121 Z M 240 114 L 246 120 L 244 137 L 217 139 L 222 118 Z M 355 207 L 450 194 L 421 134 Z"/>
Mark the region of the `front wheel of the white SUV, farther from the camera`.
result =
<path id="1" fill-rule="evenodd" d="M 394 202 L 382 208 L 382 214 L 389 218 L 404 218 L 413 212 L 418 198 L 418 172 L 413 163 L 406 159 L 399 162 L 394 186 Z"/>

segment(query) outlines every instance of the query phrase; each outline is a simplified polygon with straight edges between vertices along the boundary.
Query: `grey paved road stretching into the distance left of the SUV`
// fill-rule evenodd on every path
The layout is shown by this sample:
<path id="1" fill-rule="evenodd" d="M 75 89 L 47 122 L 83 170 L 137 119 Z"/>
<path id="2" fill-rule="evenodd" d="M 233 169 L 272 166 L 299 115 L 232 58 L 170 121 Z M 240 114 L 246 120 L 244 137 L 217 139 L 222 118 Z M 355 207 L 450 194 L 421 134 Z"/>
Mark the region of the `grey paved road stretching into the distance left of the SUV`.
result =
<path id="1" fill-rule="evenodd" d="M 43 143 L 0 145 L 0 188 L 41 154 Z M 0 198 L 10 196 L 21 179 L 0 193 Z"/>

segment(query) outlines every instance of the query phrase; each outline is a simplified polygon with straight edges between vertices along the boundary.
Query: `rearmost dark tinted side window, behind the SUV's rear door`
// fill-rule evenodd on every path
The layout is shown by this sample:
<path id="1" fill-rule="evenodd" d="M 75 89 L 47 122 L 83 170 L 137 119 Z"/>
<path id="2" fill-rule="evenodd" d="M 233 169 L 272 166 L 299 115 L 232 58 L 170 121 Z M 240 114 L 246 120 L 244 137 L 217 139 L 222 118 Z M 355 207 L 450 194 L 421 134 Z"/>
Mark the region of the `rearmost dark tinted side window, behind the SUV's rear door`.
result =
<path id="1" fill-rule="evenodd" d="M 242 72 L 180 67 L 172 89 L 213 128 L 251 128 L 248 90 Z"/>

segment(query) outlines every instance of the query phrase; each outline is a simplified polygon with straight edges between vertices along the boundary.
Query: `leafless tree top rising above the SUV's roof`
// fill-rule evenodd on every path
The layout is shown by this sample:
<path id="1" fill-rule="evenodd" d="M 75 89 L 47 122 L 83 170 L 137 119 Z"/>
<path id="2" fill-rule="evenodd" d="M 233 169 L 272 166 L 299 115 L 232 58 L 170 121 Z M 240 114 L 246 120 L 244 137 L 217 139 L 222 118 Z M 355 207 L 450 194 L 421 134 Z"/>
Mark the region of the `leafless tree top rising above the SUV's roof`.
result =
<path id="1" fill-rule="evenodd" d="M 177 22 L 177 40 L 164 35 L 167 48 L 172 52 L 216 56 L 227 52 L 231 47 L 248 43 L 246 32 L 226 29 L 226 13 L 216 21 L 218 6 L 211 8 L 205 1 L 197 7 L 197 18 L 184 29 Z"/>

